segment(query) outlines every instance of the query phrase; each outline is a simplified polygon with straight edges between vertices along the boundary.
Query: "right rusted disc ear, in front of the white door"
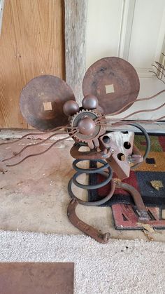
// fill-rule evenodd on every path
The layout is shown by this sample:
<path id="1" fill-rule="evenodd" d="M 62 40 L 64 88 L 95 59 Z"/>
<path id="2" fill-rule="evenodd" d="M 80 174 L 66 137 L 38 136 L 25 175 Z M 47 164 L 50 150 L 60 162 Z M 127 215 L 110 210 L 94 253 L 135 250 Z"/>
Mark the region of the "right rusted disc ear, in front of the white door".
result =
<path id="1" fill-rule="evenodd" d="M 102 58 L 87 69 L 82 91 L 85 96 L 95 95 L 104 113 L 111 114 L 128 102 L 134 103 L 139 92 L 138 74 L 122 58 Z"/>

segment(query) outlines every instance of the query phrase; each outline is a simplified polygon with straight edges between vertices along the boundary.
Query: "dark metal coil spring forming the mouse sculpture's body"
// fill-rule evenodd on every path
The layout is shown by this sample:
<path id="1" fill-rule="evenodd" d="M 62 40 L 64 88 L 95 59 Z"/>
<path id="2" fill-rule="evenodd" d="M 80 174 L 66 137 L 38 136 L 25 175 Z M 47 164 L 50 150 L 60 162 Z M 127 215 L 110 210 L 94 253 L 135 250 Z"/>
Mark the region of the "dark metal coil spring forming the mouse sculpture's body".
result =
<path id="1" fill-rule="evenodd" d="M 69 185 L 68 185 L 69 195 L 71 196 L 72 199 L 76 199 L 78 201 L 78 203 L 80 203 L 82 205 L 99 206 L 99 205 L 105 203 L 106 201 L 108 201 L 110 199 L 110 197 L 113 196 L 113 193 L 115 190 L 115 185 L 113 183 L 112 183 L 113 185 L 111 187 L 109 194 L 105 198 L 103 198 L 99 201 L 93 201 L 93 202 L 82 201 L 81 199 L 76 197 L 76 195 L 73 194 L 73 191 L 72 191 L 72 184 L 75 184 L 77 187 L 82 188 L 82 189 L 87 189 L 87 190 L 99 189 L 99 188 L 107 185 L 108 182 L 110 182 L 110 180 L 112 180 L 112 178 L 113 178 L 112 168 L 110 167 L 109 163 L 107 163 L 106 161 L 104 161 L 102 159 L 92 159 L 92 161 L 94 161 L 95 163 L 99 162 L 99 163 L 103 164 L 103 166 L 101 166 L 99 168 L 97 168 L 97 167 L 96 168 L 80 168 L 77 166 L 77 164 L 82 161 L 89 161 L 89 159 L 76 159 L 73 161 L 73 168 L 76 170 L 76 173 L 75 173 L 75 175 L 73 175 L 73 178 L 71 178 L 71 180 L 69 181 Z M 106 169 L 108 169 L 108 173 L 105 172 Z M 85 173 L 87 175 L 89 175 L 91 173 L 99 173 L 101 175 L 104 175 L 106 177 L 106 180 L 103 180 L 103 182 L 100 182 L 96 185 L 83 185 L 83 184 L 80 184 L 80 182 L 78 182 L 78 180 L 77 180 L 78 176 L 82 175 L 83 173 Z"/>

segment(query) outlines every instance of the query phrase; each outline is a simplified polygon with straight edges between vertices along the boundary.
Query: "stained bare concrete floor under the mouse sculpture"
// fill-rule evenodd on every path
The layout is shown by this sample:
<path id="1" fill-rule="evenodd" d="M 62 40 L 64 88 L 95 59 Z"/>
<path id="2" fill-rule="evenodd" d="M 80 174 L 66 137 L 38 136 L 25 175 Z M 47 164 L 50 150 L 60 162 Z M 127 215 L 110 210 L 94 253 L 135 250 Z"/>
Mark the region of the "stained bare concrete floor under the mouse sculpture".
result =
<path id="1" fill-rule="evenodd" d="M 13 152 L 35 142 L 38 140 L 24 139 L 15 144 L 0 146 L 0 158 L 12 156 Z M 27 154 L 41 152 L 50 144 L 52 141 L 29 147 L 22 156 L 17 156 L 10 163 L 17 162 Z M 66 140 L 42 156 L 31 157 L 18 166 L 7 168 L 6 173 L 0 173 L 0 229 L 81 234 L 71 225 L 66 215 L 70 201 L 67 185 L 74 174 L 73 159 L 69 153 L 72 145 L 73 141 Z M 82 192 L 76 188 L 75 192 L 81 199 L 86 198 L 84 190 Z M 116 231 L 110 208 L 78 206 L 77 214 L 101 232 L 110 232 L 113 238 L 148 240 L 141 231 Z M 155 241 L 165 241 L 165 231 L 155 233 L 152 237 Z"/>

